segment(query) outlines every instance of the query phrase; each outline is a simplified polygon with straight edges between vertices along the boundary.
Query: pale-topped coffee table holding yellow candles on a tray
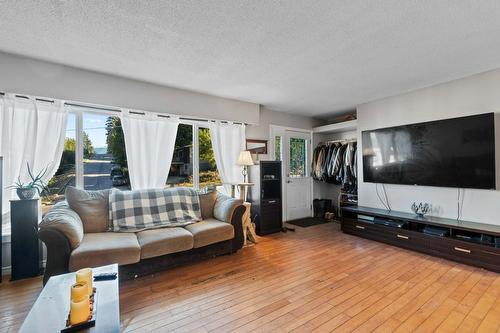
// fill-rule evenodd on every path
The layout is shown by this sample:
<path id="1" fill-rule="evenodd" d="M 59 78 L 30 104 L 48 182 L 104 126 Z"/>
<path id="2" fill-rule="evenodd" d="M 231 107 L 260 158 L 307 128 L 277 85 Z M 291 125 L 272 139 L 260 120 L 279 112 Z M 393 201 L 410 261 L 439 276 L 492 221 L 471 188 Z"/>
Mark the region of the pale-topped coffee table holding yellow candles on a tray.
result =
<path id="1" fill-rule="evenodd" d="M 118 265 L 92 269 L 95 274 L 118 273 Z M 49 279 L 19 332 L 60 332 L 65 327 L 70 303 L 70 286 L 75 283 L 75 273 L 53 276 Z M 94 327 L 79 332 L 120 332 L 120 299 L 118 278 L 94 281 L 97 289 L 97 318 Z"/>

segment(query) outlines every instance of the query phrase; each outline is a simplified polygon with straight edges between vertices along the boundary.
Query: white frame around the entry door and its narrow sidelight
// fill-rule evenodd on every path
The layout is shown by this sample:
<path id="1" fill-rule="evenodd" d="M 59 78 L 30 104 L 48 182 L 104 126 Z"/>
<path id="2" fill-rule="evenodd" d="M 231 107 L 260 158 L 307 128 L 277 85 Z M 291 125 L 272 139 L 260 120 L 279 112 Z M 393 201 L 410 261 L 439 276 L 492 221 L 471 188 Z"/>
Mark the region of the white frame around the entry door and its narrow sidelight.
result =
<path id="1" fill-rule="evenodd" d="M 270 160 L 275 160 L 275 151 L 274 151 L 274 147 L 275 147 L 275 138 L 276 136 L 281 136 L 282 138 L 282 141 L 281 141 L 281 147 L 282 149 L 284 149 L 284 139 L 285 139 L 285 136 L 286 136 L 286 132 L 287 131 L 290 131 L 290 132 L 300 132 L 300 133 L 306 133 L 306 134 L 309 134 L 309 144 L 307 145 L 307 161 L 306 161 L 306 165 L 307 165 L 307 173 L 309 174 L 309 177 L 310 177 L 310 168 L 311 168 L 311 162 L 312 162 L 312 140 L 313 140 L 313 131 L 310 130 L 310 129 L 305 129 L 305 128 L 296 128 L 296 127 L 288 127 L 288 126 L 280 126 L 280 125 L 269 125 L 269 143 L 270 143 L 270 147 L 268 147 L 268 152 L 269 152 L 269 159 Z M 286 166 L 285 166 L 285 162 L 284 159 L 286 158 L 287 154 L 283 154 L 282 156 L 282 163 L 281 163 L 281 193 L 282 193 L 282 198 L 281 198 L 281 204 L 282 204 L 282 207 L 283 207 L 283 211 L 282 211 L 282 220 L 283 220 L 283 223 L 286 223 L 287 220 L 287 194 L 286 194 L 286 180 L 287 180 L 287 170 L 286 170 Z M 310 196 L 310 203 L 309 203 L 309 207 L 310 208 L 310 216 L 313 216 L 313 210 L 312 210 L 312 203 L 313 203 L 313 181 L 311 180 L 310 181 L 310 193 L 311 193 L 311 196 Z"/>

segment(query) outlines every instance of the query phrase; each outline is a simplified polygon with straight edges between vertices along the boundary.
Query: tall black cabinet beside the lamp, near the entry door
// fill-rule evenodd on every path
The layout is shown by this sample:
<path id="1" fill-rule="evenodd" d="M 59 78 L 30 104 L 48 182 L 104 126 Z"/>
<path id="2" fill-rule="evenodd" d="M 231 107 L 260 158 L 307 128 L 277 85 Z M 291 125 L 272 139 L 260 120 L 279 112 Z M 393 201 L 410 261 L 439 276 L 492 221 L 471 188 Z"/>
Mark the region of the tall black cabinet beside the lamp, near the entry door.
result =
<path id="1" fill-rule="evenodd" d="M 254 183 L 248 192 L 252 203 L 252 219 L 257 234 L 267 235 L 283 229 L 281 201 L 281 162 L 260 161 L 248 171 L 250 182 Z"/>

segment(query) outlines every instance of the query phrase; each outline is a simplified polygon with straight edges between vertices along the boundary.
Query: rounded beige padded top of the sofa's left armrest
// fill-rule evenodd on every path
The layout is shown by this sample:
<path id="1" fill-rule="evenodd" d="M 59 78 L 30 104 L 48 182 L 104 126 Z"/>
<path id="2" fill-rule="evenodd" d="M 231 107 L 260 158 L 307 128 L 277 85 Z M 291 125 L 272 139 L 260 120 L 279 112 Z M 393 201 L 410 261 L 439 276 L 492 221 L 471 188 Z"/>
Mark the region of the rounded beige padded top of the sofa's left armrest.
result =
<path id="1" fill-rule="evenodd" d="M 80 216 L 69 208 L 67 202 L 58 202 L 52 207 L 40 222 L 40 230 L 54 228 L 62 232 L 76 249 L 83 239 L 83 224 Z"/>

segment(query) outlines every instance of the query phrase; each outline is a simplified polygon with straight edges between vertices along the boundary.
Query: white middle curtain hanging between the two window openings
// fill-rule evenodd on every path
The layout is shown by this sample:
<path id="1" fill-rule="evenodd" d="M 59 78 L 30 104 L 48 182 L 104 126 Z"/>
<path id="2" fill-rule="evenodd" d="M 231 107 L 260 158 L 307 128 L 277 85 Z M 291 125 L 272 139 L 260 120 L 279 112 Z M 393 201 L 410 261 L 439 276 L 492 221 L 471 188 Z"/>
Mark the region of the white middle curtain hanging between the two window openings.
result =
<path id="1" fill-rule="evenodd" d="M 123 134 L 133 190 L 165 187 L 178 125 L 178 118 L 123 112 Z"/>

